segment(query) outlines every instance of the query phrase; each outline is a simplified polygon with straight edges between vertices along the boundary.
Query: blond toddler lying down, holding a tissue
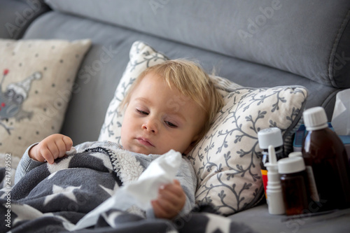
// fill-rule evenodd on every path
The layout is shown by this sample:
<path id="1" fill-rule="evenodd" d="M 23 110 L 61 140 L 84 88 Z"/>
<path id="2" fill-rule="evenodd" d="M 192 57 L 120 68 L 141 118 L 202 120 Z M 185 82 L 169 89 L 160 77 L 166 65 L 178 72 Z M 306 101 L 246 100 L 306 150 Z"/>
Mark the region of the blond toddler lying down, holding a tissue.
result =
<path id="1" fill-rule="evenodd" d="M 120 105 L 125 111 L 121 147 L 141 154 L 137 157 L 162 155 L 171 149 L 187 154 L 202 139 L 222 105 L 223 99 L 209 76 L 194 62 L 178 59 L 151 66 L 135 80 Z M 105 143 L 99 142 L 99 147 L 111 146 L 111 142 Z M 77 152 L 93 145 L 82 143 L 76 146 Z M 52 134 L 30 146 L 19 164 L 16 183 L 43 162 L 53 164 L 66 156 L 72 146 L 73 141 L 62 134 Z M 181 172 L 190 178 L 181 183 L 176 179 L 160 188 L 158 199 L 152 202 L 157 218 L 172 219 L 193 208 L 195 174 L 188 160 L 183 160 L 187 166 Z"/>

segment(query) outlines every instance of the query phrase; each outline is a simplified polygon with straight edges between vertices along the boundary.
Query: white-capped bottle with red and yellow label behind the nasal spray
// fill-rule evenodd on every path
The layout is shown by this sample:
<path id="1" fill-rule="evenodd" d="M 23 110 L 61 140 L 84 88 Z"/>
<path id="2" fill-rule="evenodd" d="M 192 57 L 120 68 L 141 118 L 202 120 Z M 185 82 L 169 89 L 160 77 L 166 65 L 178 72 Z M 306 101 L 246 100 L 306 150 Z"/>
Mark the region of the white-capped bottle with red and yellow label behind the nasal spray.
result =
<path id="1" fill-rule="evenodd" d="M 277 127 L 262 129 L 258 132 L 258 142 L 259 147 L 262 149 L 262 160 L 260 162 L 261 167 L 261 175 L 262 175 L 262 183 L 264 185 L 265 190 L 265 197 L 267 199 L 267 168 L 265 167 L 265 164 L 269 162 L 269 146 L 273 146 L 277 160 L 280 160 L 282 157 L 284 157 L 284 150 L 283 150 L 283 139 L 281 134 L 281 129 Z"/>

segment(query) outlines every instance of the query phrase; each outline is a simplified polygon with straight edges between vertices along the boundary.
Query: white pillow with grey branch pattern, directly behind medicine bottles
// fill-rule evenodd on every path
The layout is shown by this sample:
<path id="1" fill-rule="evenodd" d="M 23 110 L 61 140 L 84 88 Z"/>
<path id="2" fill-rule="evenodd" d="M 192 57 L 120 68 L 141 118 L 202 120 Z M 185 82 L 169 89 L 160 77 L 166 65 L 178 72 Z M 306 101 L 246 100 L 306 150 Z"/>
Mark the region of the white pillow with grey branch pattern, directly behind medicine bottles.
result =
<path id="1" fill-rule="evenodd" d="M 304 87 L 228 92 L 211 129 L 187 155 L 197 172 L 196 201 L 211 202 L 225 215 L 256 204 L 264 191 L 258 132 L 279 127 L 286 139 L 295 131 L 306 98 Z"/>

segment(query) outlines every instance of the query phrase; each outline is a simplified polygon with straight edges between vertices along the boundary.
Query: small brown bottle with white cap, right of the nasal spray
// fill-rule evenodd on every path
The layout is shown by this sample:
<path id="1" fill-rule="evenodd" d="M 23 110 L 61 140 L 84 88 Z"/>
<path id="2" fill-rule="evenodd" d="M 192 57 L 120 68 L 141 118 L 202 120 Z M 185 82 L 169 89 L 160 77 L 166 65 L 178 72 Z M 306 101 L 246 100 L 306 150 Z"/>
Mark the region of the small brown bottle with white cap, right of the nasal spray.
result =
<path id="1" fill-rule="evenodd" d="M 302 157 L 286 157 L 278 162 L 283 202 L 287 216 L 309 213 L 309 183 Z"/>

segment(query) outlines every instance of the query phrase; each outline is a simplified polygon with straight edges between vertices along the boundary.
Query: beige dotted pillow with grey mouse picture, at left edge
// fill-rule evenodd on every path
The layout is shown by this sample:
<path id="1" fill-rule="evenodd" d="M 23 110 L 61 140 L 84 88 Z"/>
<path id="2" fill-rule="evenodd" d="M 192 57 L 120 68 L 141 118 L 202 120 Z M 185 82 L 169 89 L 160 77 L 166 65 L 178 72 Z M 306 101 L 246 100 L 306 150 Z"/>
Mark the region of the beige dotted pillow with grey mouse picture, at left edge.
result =
<path id="1" fill-rule="evenodd" d="M 59 132 L 90 40 L 0 39 L 0 153 L 26 148 Z"/>

